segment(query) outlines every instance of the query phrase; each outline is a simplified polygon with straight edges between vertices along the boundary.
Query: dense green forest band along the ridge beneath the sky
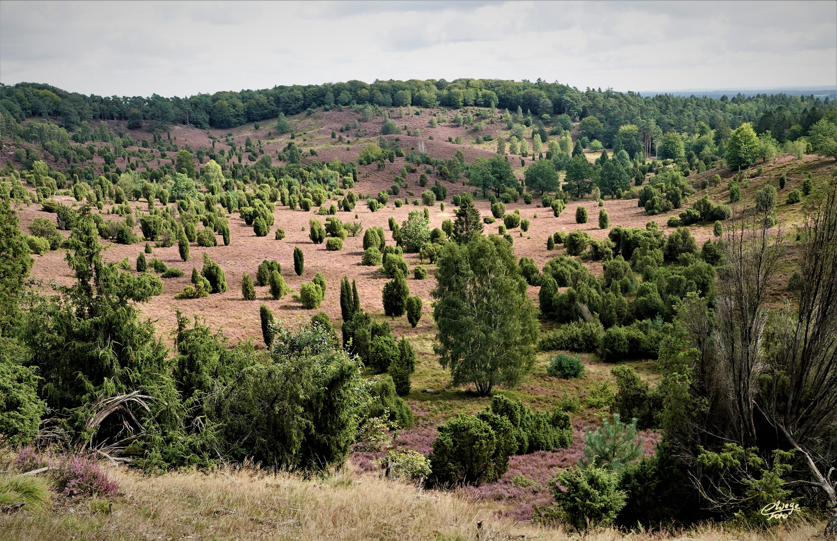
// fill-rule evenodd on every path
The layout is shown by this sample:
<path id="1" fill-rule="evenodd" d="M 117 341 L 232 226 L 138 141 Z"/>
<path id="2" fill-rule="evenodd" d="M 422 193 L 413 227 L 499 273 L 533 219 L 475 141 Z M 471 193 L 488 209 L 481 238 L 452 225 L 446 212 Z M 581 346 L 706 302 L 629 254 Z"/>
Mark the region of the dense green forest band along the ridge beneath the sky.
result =
<path id="1" fill-rule="evenodd" d="M 480 106 L 516 110 L 521 108 L 536 120 L 542 115 L 568 115 L 573 121 L 595 117 L 601 125 L 587 126 L 591 140 L 611 147 L 621 125 L 637 125 L 656 138 L 675 131 L 694 135 L 698 123 L 716 130 L 719 140 L 744 122 L 752 122 L 757 133 L 768 130 L 779 142 L 805 135 L 822 118 L 829 99 L 785 94 L 742 94 L 720 100 L 669 94 L 642 97 L 611 89 L 580 91 L 566 84 L 535 83 L 499 79 L 376 81 L 276 86 L 273 89 L 241 90 L 198 94 L 189 98 L 85 96 L 57 89 L 49 84 L 20 83 L 0 85 L 0 115 L 3 133 L 9 133 L 9 119 L 18 122 L 29 117 L 55 117 L 68 131 L 80 122 L 125 120 L 128 128 L 166 125 L 194 125 L 198 128 L 231 128 L 247 122 L 275 118 L 280 113 L 296 115 L 302 111 L 356 104 L 380 107 L 416 105 L 419 107 Z M 149 131 L 151 131 L 149 130 Z"/>

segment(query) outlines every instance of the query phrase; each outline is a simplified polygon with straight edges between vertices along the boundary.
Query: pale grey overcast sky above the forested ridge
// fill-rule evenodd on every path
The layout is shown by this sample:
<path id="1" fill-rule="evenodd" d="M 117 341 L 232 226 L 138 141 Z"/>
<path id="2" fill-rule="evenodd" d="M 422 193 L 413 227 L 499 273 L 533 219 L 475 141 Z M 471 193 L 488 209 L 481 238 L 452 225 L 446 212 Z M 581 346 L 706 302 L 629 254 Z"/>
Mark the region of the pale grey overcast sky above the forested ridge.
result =
<path id="1" fill-rule="evenodd" d="M 0 82 L 186 96 L 361 79 L 837 84 L 837 3 L 0 2 Z"/>

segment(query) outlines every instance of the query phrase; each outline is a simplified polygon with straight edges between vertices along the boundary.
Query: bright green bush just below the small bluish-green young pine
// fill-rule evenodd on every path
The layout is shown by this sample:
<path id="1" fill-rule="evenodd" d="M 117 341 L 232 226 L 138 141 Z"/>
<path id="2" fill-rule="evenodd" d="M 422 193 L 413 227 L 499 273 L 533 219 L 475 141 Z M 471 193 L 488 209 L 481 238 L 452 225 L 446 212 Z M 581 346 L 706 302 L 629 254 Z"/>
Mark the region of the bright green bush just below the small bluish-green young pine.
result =
<path id="1" fill-rule="evenodd" d="M 537 521 L 560 522 L 578 533 L 607 528 L 624 508 L 627 495 L 619 490 L 619 473 L 598 467 L 566 469 L 548 483 L 552 506 L 535 508 Z"/>

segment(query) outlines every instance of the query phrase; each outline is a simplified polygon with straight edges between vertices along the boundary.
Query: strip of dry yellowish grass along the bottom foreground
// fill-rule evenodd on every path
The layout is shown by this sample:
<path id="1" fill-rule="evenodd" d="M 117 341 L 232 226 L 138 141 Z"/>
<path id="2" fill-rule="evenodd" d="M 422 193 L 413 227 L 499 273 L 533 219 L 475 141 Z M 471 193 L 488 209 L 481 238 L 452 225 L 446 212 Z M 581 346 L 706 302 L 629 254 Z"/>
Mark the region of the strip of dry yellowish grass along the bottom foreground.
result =
<path id="1" fill-rule="evenodd" d="M 578 539 L 561 528 L 496 518 L 487 503 L 456 493 L 418 492 L 401 482 L 348 470 L 326 479 L 251 468 L 142 476 L 125 467 L 110 471 L 120 483 L 110 498 L 53 498 L 41 513 L 0 515 L 0 538 L 77 539 Z M 480 526 L 481 524 L 481 526 Z M 657 533 L 603 530 L 585 539 L 747 539 L 803 541 L 822 524 L 797 523 L 768 532 L 707 525 Z"/>

